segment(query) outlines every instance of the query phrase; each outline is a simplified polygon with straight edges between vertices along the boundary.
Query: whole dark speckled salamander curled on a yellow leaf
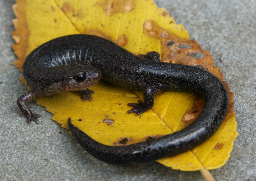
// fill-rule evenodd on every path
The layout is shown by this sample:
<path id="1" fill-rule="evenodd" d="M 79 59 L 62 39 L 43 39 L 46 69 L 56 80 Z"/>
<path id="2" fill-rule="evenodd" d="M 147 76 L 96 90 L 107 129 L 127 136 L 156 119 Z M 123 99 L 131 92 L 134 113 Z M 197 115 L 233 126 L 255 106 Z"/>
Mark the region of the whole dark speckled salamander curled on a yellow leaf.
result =
<path id="1" fill-rule="evenodd" d="M 32 91 L 18 98 L 17 103 L 28 122 L 38 122 L 38 116 L 25 102 L 35 96 L 80 89 L 86 92 L 84 100 L 92 99 L 92 91 L 87 88 L 100 77 L 114 85 L 144 91 L 144 101 L 128 104 L 133 108 L 127 113 L 136 115 L 152 108 L 154 94 L 163 90 L 189 91 L 205 97 L 202 113 L 187 128 L 127 146 L 103 145 L 75 127 L 69 118 L 69 129 L 80 145 L 110 164 L 150 162 L 196 147 L 214 134 L 229 108 L 228 91 L 212 73 L 194 66 L 161 62 L 159 53 L 154 51 L 137 56 L 94 35 L 67 35 L 50 40 L 27 56 L 22 69 Z"/>

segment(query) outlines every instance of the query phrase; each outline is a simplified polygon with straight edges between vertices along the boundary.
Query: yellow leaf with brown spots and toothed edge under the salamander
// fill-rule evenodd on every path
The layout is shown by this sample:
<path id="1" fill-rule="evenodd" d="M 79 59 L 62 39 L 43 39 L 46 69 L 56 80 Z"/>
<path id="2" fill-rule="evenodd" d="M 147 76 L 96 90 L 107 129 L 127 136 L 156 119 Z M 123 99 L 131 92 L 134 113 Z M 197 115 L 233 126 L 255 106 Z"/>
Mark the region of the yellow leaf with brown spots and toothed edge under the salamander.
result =
<path id="1" fill-rule="evenodd" d="M 160 52 L 162 61 L 198 65 L 221 80 L 208 51 L 203 51 L 187 31 L 176 24 L 164 8 L 153 0 L 17 0 L 17 19 L 12 35 L 21 70 L 25 57 L 46 41 L 68 34 L 93 34 L 116 42 L 135 54 Z M 21 79 L 25 82 L 24 79 Z M 215 169 L 229 158 L 236 132 L 233 93 L 230 108 L 217 132 L 202 145 L 170 158 L 157 160 L 184 171 Z M 129 145 L 181 130 L 191 124 L 204 106 L 193 93 L 165 91 L 155 96 L 154 107 L 141 114 L 127 114 L 127 103 L 136 103 L 142 92 L 100 81 L 91 87 L 94 101 L 83 102 L 79 92 L 62 92 L 53 97 L 37 97 L 38 104 L 53 113 L 52 119 L 67 128 L 73 124 L 105 145 Z M 104 135 L 104 136 L 102 136 Z"/>

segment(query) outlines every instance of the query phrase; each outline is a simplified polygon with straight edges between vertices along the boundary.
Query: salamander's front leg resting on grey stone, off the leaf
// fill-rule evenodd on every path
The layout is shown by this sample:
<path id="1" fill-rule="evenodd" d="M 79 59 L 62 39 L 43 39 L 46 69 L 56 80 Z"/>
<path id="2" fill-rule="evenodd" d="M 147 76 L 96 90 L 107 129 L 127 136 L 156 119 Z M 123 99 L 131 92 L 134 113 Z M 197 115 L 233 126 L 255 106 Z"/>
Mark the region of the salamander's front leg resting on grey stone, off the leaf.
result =
<path id="1" fill-rule="evenodd" d="M 40 123 L 37 118 L 40 118 L 41 115 L 32 113 L 30 111 L 30 108 L 26 104 L 26 102 L 31 101 L 34 97 L 36 97 L 36 95 L 34 94 L 33 91 L 31 91 L 31 92 L 28 92 L 27 94 L 20 96 L 17 100 L 17 105 L 20 108 L 21 112 L 26 116 L 29 124 L 31 123 L 31 121 L 36 122 L 36 124 Z"/>

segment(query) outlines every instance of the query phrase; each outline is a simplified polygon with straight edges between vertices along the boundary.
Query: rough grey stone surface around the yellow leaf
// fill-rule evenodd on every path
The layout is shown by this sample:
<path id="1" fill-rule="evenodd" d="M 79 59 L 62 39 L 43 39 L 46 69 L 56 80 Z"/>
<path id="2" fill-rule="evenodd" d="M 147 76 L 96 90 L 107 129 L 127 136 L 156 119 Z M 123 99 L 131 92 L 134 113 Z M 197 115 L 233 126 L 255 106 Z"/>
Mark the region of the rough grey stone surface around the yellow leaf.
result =
<path id="1" fill-rule="evenodd" d="M 256 1 L 255 0 L 155 0 L 188 30 L 235 92 L 235 112 L 240 132 L 227 163 L 211 174 L 216 180 L 256 180 Z M 102 163 L 87 154 L 51 120 L 52 114 L 35 102 L 41 124 L 28 125 L 16 106 L 27 91 L 12 64 L 14 30 L 11 5 L 0 1 L 0 180 L 204 180 L 199 171 L 182 172 L 153 162 L 133 166 Z"/>

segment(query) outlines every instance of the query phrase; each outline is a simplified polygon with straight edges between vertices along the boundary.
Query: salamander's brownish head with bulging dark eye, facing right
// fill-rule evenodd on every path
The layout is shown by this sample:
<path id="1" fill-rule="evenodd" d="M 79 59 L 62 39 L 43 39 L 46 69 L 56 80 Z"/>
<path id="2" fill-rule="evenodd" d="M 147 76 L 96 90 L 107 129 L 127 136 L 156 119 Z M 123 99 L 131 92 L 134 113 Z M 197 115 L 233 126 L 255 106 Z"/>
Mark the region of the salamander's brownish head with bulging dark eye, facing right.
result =
<path id="1" fill-rule="evenodd" d="M 36 91 L 38 95 L 52 95 L 63 91 L 83 90 L 95 85 L 100 78 L 101 71 L 92 66 L 73 63 L 50 67 L 50 71 L 40 78 L 41 83 Z"/>

